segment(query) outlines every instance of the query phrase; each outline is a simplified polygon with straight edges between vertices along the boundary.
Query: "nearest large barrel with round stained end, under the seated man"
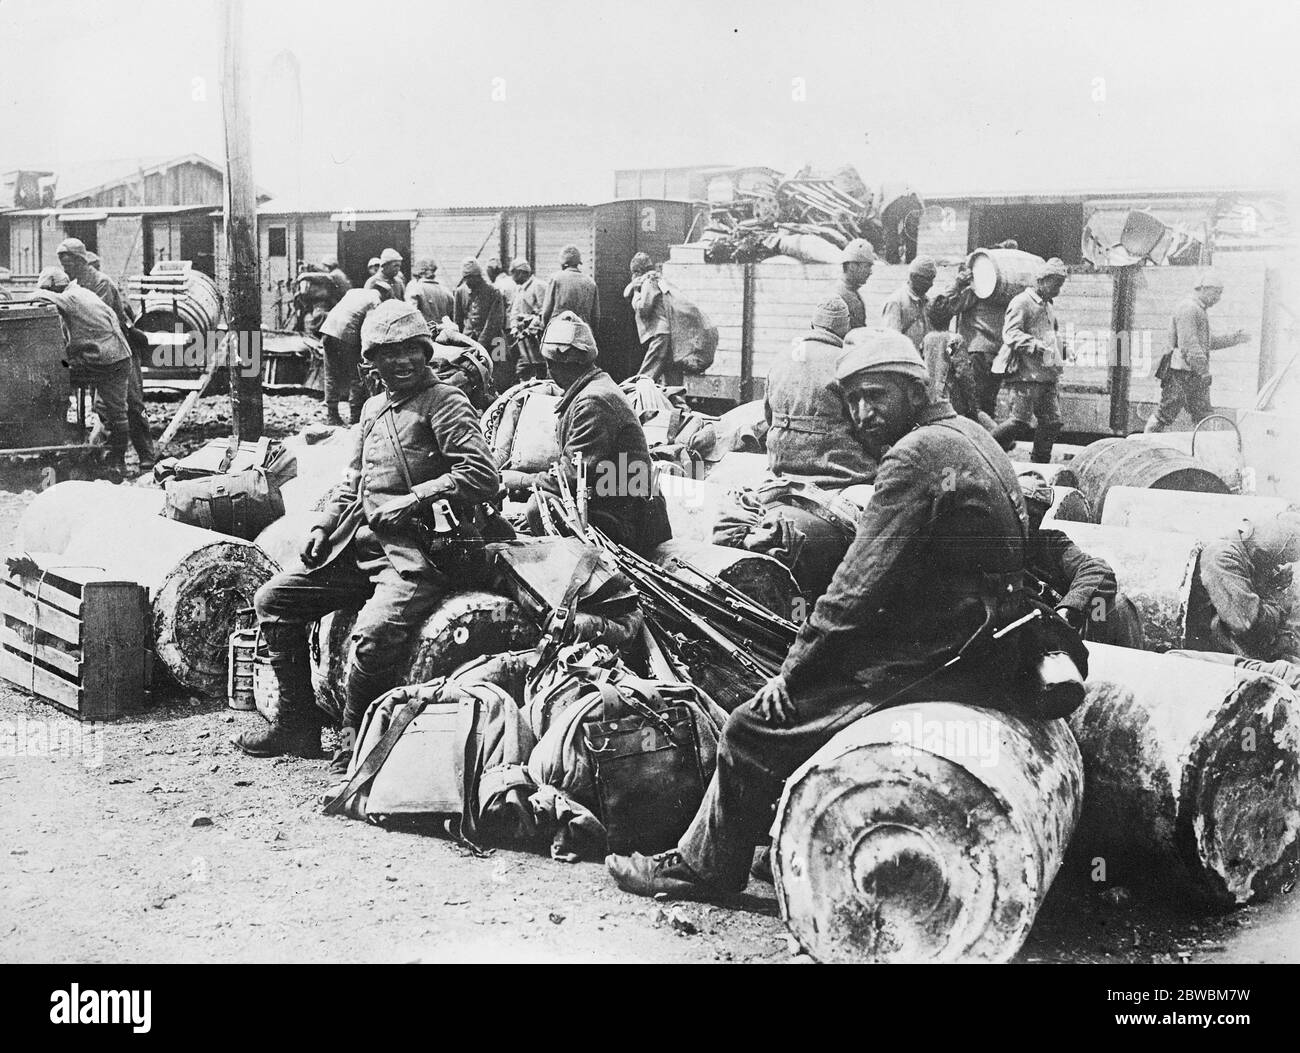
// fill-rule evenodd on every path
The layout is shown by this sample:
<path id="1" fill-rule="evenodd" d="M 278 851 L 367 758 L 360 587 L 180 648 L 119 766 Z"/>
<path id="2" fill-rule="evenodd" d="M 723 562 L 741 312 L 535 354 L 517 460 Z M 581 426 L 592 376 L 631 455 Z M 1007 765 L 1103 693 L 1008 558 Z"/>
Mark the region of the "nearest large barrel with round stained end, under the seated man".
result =
<path id="1" fill-rule="evenodd" d="M 950 702 L 874 712 L 785 784 L 772 852 L 781 915 L 822 962 L 1005 962 L 1082 797 L 1062 720 Z"/>

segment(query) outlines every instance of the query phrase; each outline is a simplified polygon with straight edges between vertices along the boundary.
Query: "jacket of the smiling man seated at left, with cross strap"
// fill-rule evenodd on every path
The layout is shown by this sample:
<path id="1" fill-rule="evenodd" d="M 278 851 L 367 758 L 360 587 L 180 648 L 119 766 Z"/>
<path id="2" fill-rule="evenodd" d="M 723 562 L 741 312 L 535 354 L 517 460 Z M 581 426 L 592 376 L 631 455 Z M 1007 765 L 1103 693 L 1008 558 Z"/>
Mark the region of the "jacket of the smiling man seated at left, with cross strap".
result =
<path id="1" fill-rule="evenodd" d="M 360 426 L 354 429 L 352 456 L 343 482 L 330 495 L 329 507 L 313 524 L 329 534 L 329 550 L 320 566 L 333 560 L 363 532 L 384 549 L 403 575 L 420 575 L 428 560 L 415 538 L 402 530 L 372 530 L 369 517 L 393 498 L 411 493 L 381 411 L 389 395 L 367 399 Z M 413 393 L 393 402 L 398 438 L 406 451 L 413 491 L 422 502 L 447 498 L 462 521 L 474 507 L 495 499 L 500 474 L 488 448 L 478 415 L 465 395 L 426 370 Z"/>

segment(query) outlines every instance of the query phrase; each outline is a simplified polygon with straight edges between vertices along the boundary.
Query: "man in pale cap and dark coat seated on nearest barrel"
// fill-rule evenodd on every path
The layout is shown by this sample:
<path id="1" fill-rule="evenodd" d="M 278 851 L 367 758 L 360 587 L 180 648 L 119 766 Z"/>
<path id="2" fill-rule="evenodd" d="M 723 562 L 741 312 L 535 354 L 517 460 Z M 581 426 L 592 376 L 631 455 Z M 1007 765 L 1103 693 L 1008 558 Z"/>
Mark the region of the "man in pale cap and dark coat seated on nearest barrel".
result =
<path id="1" fill-rule="evenodd" d="M 854 347 L 837 380 L 881 456 L 875 494 L 781 673 L 728 719 L 718 768 L 677 849 L 606 861 L 629 892 L 710 898 L 742 889 L 785 779 L 881 705 L 1013 697 L 1019 636 L 991 638 L 1028 608 L 1026 512 L 1010 462 L 988 432 L 930 398 L 906 337 L 881 333 Z"/>

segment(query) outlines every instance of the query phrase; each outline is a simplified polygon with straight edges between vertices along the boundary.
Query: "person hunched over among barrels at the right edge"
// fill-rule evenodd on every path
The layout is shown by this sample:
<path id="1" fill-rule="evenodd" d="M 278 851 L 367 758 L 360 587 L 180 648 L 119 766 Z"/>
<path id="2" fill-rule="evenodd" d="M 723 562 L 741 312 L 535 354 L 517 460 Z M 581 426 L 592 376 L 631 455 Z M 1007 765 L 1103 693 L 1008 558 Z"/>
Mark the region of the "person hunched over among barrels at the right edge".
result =
<path id="1" fill-rule="evenodd" d="M 1261 662 L 1300 662 L 1291 566 L 1300 560 L 1300 512 L 1245 520 L 1209 542 L 1197 576 L 1214 611 L 1210 634 L 1218 647 Z"/>

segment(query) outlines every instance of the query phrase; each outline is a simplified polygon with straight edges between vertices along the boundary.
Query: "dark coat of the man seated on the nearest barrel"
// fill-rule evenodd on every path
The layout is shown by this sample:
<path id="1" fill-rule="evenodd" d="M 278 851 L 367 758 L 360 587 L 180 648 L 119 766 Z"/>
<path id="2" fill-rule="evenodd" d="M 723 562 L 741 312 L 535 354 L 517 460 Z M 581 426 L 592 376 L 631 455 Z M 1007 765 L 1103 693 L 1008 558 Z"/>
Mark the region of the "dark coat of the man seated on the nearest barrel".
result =
<path id="1" fill-rule="evenodd" d="M 1026 529 L 1006 454 L 946 402 L 931 403 L 881 459 L 857 537 L 781 667 L 786 682 L 852 679 L 879 702 L 937 670 L 982 625 L 1015 620 Z M 1011 634 L 926 690 L 997 705 L 1018 664 Z"/>

